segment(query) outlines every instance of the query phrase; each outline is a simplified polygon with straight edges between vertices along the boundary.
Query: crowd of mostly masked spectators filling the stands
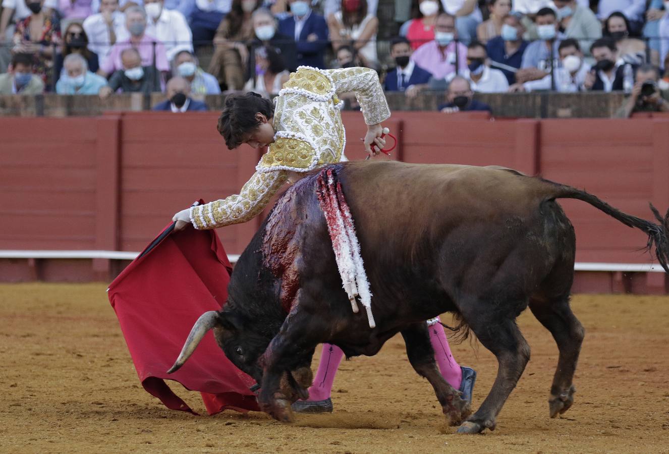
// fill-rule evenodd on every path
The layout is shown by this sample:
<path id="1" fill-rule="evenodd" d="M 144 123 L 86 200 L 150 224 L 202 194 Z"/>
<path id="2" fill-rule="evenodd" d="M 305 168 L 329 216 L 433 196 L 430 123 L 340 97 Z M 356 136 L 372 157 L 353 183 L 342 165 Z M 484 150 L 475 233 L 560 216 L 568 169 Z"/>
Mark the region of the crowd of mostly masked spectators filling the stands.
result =
<path id="1" fill-rule="evenodd" d="M 381 23 L 379 0 L 2 0 L 0 94 L 164 92 L 157 110 L 184 112 L 226 90 L 272 96 L 300 65 L 366 66 L 407 98 L 445 90 L 443 112 L 537 90 L 623 90 L 623 113 L 665 108 L 669 1 L 390 5 Z"/>

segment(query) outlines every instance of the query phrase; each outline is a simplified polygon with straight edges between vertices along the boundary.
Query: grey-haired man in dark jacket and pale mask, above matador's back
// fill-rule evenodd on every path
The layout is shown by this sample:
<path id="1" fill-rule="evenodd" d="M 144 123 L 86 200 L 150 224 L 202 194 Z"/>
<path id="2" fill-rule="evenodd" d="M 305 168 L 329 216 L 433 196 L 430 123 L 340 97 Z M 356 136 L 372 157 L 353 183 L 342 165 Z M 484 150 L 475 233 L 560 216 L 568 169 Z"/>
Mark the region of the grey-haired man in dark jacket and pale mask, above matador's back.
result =
<path id="1" fill-rule="evenodd" d="M 253 12 L 252 23 L 254 29 L 254 39 L 251 42 L 251 49 L 270 46 L 281 55 L 281 59 L 286 66 L 286 70 L 294 72 L 297 70 L 296 45 L 294 39 L 290 36 L 282 35 L 277 30 L 277 20 L 272 15 L 272 11 L 266 8 L 258 8 Z M 249 78 L 256 74 L 255 52 L 250 53 L 249 64 L 246 74 Z"/>

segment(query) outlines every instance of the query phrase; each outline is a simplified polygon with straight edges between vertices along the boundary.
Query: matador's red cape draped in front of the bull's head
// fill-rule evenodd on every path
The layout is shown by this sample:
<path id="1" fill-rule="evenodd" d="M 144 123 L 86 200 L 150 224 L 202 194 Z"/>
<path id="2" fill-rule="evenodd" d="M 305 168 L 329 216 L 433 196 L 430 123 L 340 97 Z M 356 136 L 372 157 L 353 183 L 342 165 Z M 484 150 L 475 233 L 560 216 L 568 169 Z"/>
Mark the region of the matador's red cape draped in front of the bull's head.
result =
<path id="1" fill-rule="evenodd" d="M 167 235 L 109 286 L 109 301 L 142 386 L 169 409 L 197 415 L 165 378 L 200 391 L 209 415 L 225 409 L 259 411 L 249 389 L 255 381 L 229 362 L 211 332 L 181 369 L 167 374 L 195 320 L 225 304 L 231 271 L 215 232 L 189 228 Z"/>

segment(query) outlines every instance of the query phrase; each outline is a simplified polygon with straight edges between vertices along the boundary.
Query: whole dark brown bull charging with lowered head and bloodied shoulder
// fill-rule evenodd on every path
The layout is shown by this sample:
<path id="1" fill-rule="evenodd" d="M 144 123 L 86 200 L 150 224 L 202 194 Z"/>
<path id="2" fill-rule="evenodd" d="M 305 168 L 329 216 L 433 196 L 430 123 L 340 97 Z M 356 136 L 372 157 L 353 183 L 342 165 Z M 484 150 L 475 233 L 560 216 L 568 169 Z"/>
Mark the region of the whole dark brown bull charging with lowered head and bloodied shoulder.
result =
<path id="1" fill-rule="evenodd" d="M 494 430 L 530 348 L 516 318 L 528 306 L 559 349 L 549 413 L 573 404 L 583 326 L 569 307 L 575 234 L 556 199 L 579 199 L 648 235 L 667 268 L 668 219 L 658 224 L 622 213 L 594 195 L 501 167 L 399 162 L 334 164 L 355 220 L 371 310 L 354 313 L 320 209 L 318 174 L 290 187 L 232 273 L 223 309 L 199 318 L 177 370 L 213 329 L 235 366 L 260 384 L 260 408 L 292 421 L 290 404 L 308 396 L 316 344 L 372 356 L 401 333 L 411 366 L 434 388 L 459 433 Z M 668 214 L 669 216 L 669 214 Z M 471 414 L 442 378 L 425 320 L 452 312 L 498 361 L 490 393 Z"/>

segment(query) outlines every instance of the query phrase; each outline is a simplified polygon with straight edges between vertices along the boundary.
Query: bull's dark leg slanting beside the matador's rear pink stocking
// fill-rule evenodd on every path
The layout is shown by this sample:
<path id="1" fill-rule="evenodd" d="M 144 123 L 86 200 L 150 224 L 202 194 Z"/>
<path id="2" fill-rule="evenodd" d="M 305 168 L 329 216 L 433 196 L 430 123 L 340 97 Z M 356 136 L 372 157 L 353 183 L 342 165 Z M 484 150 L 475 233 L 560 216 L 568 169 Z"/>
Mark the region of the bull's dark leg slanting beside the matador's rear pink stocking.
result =
<path id="1" fill-rule="evenodd" d="M 406 328 L 402 331 L 402 337 L 407 346 L 407 356 L 409 356 L 411 366 L 420 376 L 427 378 L 429 384 L 432 384 L 450 425 L 460 424 L 472 413 L 470 404 L 460 398 L 460 391 L 448 384 L 439 372 L 434 360 L 434 349 L 429 340 L 427 324 L 423 322 Z"/>

